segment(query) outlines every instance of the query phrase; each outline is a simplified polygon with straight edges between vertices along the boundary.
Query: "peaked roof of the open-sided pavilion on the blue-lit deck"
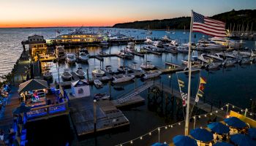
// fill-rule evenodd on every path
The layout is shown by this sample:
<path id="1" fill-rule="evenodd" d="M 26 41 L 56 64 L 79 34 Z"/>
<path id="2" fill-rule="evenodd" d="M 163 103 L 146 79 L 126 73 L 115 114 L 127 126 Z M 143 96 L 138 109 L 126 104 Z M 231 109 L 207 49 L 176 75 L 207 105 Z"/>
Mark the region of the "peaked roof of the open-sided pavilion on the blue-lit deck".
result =
<path id="1" fill-rule="evenodd" d="M 34 91 L 48 88 L 48 83 L 45 80 L 31 79 L 20 84 L 18 93 L 24 91 Z"/>

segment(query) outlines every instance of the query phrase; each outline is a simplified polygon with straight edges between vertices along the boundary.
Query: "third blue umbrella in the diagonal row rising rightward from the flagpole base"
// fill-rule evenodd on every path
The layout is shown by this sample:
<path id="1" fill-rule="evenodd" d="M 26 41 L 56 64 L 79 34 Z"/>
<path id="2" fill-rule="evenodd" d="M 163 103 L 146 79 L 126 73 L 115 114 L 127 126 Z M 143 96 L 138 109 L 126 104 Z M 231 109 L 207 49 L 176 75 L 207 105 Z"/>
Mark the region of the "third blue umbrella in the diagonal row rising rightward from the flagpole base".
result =
<path id="1" fill-rule="evenodd" d="M 217 134 L 227 134 L 230 131 L 230 128 L 219 122 L 213 122 L 208 124 L 207 126 L 211 129 L 211 131 L 214 131 Z"/>

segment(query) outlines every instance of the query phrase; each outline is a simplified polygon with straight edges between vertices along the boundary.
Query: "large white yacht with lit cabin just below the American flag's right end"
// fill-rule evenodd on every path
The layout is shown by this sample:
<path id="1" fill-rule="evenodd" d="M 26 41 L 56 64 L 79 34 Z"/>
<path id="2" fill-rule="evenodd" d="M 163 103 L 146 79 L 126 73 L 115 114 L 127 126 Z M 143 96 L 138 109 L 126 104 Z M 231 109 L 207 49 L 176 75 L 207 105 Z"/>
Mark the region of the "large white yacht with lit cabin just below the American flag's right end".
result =
<path id="1" fill-rule="evenodd" d="M 222 37 L 212 37 L 210 38 L 210 40 L 212 42 L 215 42 L 219 45 L 223 45 L 225 47 L 239 48 L 239 47 L 243 47 L 244 45 L 244 42 L 238 42 L 232 39 L 222 38 Z"/>

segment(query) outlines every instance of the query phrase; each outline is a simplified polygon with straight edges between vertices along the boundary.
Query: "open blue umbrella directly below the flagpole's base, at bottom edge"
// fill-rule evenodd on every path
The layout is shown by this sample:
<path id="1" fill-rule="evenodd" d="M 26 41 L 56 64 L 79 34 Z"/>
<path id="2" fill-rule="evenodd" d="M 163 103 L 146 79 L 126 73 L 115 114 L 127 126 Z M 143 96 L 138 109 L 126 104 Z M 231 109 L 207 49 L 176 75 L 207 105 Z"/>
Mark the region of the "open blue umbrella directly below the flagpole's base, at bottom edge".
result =
<path id="1" fill-rule="evenodd" d="M 197 146 L 197 141 L 195 141 L 195 139 L 183 135 L 173 137 L 173 143 L 176 146 Z"/>

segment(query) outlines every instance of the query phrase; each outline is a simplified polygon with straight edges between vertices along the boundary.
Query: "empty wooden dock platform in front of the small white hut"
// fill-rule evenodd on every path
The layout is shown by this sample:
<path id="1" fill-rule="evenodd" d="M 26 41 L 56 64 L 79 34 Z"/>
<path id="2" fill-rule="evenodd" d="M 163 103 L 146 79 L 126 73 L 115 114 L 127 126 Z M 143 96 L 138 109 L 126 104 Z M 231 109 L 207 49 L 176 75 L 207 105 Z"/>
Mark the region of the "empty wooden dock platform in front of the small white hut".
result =
<path id="1" fill-rule="evenodd" d="M 91 97 L 70 101 L 70 115 L 78 136 L 94 133 L 94 102 Z M 129 126 L 129 120 L 111 101 L 97 101 L 97 132 Z"/>

